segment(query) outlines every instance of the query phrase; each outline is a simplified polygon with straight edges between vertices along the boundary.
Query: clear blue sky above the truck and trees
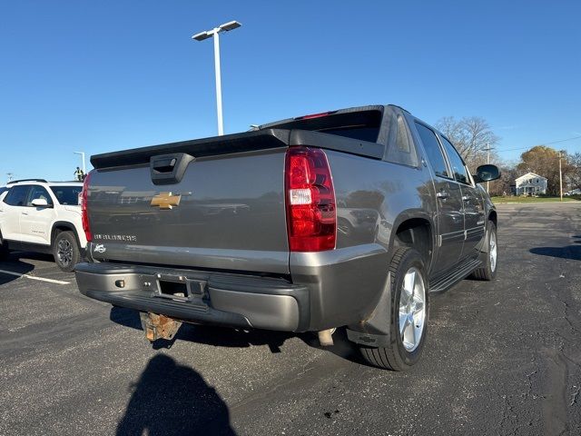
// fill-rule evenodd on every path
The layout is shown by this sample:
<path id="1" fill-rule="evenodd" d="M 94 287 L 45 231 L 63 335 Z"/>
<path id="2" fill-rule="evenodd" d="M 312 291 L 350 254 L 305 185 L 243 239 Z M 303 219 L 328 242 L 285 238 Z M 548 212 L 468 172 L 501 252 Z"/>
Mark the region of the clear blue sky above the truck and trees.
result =
<path id="1" fill-rule="evenodd" d="M 0 5 L 0 183 L 79 157 L 364 104 L 478 115 L 507 151 L 581 136 L 581 3 L 25 1 Z M 556 144 L 581 151 L 581 137 Z"/>

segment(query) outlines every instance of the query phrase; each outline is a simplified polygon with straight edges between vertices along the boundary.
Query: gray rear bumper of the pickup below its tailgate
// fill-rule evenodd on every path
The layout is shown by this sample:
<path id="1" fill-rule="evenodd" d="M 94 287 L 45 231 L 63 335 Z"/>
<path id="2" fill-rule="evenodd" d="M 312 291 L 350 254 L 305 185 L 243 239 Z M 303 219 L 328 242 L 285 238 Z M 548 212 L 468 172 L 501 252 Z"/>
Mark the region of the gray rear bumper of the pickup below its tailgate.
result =
<path id="1" fill-rule="evenodd" d="M 307 287 L 283 279 L 115 263 L 79 263 L 75 274 L 88 297 L 185 322 L 284 332 L 310 324 Z M 167 283 L 183 292 L 163 293 Z"/>

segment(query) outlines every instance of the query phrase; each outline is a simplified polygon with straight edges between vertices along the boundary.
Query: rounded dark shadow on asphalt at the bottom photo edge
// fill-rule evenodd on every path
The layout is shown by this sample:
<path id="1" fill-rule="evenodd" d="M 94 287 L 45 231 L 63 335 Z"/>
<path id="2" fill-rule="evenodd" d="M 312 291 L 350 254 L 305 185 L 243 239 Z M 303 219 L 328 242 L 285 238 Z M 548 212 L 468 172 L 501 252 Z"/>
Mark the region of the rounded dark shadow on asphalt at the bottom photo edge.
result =
<path id="1" fill-rule="evenodd" d="M 157 354 L 133 386 L 116 434 L 234 435 L 228 406 L 202 376 Z"/>

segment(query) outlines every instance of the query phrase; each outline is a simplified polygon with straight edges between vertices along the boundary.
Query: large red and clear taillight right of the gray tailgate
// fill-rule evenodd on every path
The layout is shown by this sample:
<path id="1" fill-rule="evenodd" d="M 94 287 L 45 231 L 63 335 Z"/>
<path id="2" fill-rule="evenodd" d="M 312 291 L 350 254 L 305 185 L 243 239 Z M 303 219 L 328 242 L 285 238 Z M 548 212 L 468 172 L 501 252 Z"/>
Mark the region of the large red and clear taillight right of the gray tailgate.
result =
<path id="1" fill-rule="evenodd" d="M 291 147 L 286 154 L 285 189 L 291 252 L 335 248 L 335 191 L 325 153 Z"/>

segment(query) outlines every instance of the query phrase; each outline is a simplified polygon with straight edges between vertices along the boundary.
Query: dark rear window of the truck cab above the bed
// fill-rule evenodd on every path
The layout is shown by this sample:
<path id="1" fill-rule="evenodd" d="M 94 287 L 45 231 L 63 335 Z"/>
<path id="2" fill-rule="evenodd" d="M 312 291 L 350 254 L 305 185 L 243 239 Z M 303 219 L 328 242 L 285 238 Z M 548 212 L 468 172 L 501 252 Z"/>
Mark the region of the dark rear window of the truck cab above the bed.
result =
<path id="1" fill-rule="evenodd" d="M 370 110 L 329 114 L 316 118 L 299 118 L 281 124 L 267 125 L 272 128 L 301 129 L 321 132 L 323 134 L 337 134 L 347 138 L 375 143 L 378 140 L 380 124 L 381 112 Z"/>

